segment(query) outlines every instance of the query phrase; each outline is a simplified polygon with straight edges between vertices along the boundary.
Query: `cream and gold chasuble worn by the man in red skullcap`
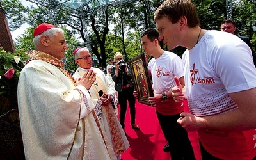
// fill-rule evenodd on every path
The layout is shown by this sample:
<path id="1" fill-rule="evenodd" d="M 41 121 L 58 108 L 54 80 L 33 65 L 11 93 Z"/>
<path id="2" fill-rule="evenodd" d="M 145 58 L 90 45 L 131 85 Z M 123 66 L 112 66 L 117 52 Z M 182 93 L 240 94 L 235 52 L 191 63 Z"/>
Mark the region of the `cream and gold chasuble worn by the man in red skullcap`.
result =
<path id="1" fill-rule="evenodd" d="M 62 61 L 39 51 L 28 56 L 18 84 L 26 159 L 116 159 L 86 88 L 76 86 Z"/>

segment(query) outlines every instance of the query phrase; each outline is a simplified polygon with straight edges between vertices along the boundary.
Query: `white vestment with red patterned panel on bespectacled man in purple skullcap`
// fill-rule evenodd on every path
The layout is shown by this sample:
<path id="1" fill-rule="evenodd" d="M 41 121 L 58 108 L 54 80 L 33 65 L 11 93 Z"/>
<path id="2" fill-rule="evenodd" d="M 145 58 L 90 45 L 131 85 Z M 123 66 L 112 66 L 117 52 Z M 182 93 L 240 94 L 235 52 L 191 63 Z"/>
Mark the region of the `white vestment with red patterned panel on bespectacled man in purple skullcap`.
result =
<path id="1" fill-rule="evenodd" d="M 92 84 L 89 90 L 94 104 L 97 103 L 101 96 L 99 95 L 100 90 L 102 90 L 103 93 L 107 93 L 115 97 L 115 84 L 113 81 L 109 81 L 104 72 L 99 68 L 92 67 L 90 69 L 96 73 L 96 81 Z M 73 77 L 75 79 L 83 77 L 85 72 L 86 69 L 79 67 L 73 74 Z M 102 130 L 106 132 L 109 140 L 111 141 L 111 145 L 113 146 L 116 156 L 124 153 L 125 150 L 129 148 L 129 142 L 111 104 L 102 107 L 102 119 L 100 122 L 102 124 Z"/>

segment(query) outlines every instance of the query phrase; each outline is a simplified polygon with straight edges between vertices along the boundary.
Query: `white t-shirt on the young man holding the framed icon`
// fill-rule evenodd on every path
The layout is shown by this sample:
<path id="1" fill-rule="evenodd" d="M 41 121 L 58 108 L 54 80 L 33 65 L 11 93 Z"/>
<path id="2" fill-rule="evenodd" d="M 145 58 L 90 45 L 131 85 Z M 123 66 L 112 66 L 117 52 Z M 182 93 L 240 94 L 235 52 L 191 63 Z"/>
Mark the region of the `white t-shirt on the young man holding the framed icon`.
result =
<path id="1" fill-rule="evenodd" d="M 148 69 L 152 74 L 154 94 L 170 92 L 176 85 L 174 76 L 183 77 L 181 58 L 169 51 L 164 51 L 159 58 L 152 58 Z"/>

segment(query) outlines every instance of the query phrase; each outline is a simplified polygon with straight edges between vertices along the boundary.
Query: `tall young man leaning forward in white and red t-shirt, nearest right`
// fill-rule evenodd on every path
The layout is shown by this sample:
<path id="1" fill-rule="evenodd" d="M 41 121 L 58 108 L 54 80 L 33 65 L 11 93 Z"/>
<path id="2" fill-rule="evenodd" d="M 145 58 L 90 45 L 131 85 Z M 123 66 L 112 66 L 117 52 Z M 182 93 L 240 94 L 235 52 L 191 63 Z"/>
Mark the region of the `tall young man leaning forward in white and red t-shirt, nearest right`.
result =
<path id="1" fill-rule="evenodd" d="M 186 95 L 177 77 L 172 95 L 176 102 L 187 97 L 190 113 L 177 122 L 198 132 L 202 159 L 255 158 L 256 68 L 248 45 L 230 33 L 201 29 L 189 0 L 164 1 L 154 20 L 168 49 L 187 48 Z"/>

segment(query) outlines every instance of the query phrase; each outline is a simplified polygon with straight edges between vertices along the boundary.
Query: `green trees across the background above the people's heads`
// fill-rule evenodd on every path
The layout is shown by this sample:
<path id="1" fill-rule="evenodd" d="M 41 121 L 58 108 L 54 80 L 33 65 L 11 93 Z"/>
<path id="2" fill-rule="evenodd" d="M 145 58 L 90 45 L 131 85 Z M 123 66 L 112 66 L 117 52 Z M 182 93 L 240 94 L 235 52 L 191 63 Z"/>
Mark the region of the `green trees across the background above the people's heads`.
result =
<path id="1" fill-rule="evenodd" d="M 127 58 L 140 54 L 140 36 L 134 36 L 133 38 L 128 36 L 130 33 L 140 35 L 142 31 L 150 27 L 156 28 L 153 20 L 154 12 L 163 1 L 132 1 L 131 3 L 124 3 L 122 6 L 110 8 L 106 12 L 102 12 L 102 10 L 97 12 L 96 10 L 93 15 L 87 15 L 86 12 L 79 15 L 70 12 L 70 10 L 61 5 L 52 6 L 55 8 L 45 8 L 44 6 L 40 6 L 40 8 L 27 8 L 15 0 L 3 0 L 2 5 L 4 10 L 6 10 L 8 20 L 11 22 L 10 28 L 17 28 L 22 24 L 22 20 L 25 20 L 31 26 L 36 26 L 41 22 L 65 24 L 71 28 L 70 34 L 78 33 L 81 36 L 84 40 L 82 46 L 92 48 L 93 52 L 91 54 L 97 56 L 99 61 L 95 60 L 95 63 L 105 63 L 105 61 L 113 59 L 115 52 L 122 52 Z M 192 2 L 198 10 L 201 28 L 220 30 L 221 22 L 227 19 L 226 1 L 192 0 Z M 237 22 L 236 35 L 252 38 L 251 42 L 254 48 L 256 45 L 256 35 L 252 31 L 252 25 L 256 19 L 255 10 L 255 0 L 233 1 L 233 19 Z M 87 45 L 86 40 L 88 40 L 84 33 L 84 28 L 87 29 L 88 36 L 90 37 L 90 46 L 84 45 Z M 108 29 L 111 32 L 108 32 Z M 23 43 L 22 41 L 18 42 Z M 26 48 L 25 45 L 23 47 Z M 72 49 L 72 45 L 70 45 L 70 50 Z M 184 49 L 179 47 L 172 51 L 182 55 Z M 72 60 L 72 55 L 68 53 L 67 56 L 67 63 L 69 63 L 68 61 Z M 67 65 L 68 70 L 70 70 L 72 65 L 73 62 Z"/>

